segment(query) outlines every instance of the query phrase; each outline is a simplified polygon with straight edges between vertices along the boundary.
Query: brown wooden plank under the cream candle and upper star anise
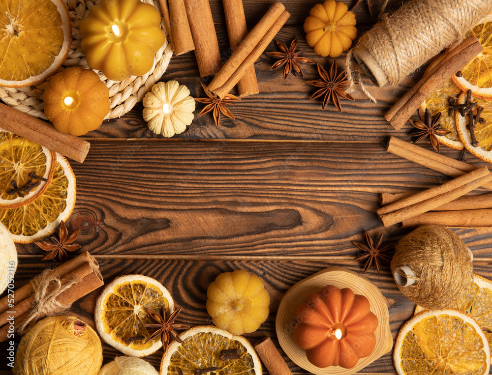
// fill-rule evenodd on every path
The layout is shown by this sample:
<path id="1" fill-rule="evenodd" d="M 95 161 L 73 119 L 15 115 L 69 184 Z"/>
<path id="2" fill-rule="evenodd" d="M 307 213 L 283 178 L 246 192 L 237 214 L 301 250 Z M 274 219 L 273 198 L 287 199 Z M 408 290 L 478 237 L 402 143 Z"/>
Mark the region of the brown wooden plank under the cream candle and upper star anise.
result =
<path id="1" fill-rule="evenodd" d="M 228 56 L 229 42 L 225 26 L 217 25 L 220 48 L 224 58 Z M 367 28 L 361 29 L 361 34 Z M 317 56 L 306 43 L 302 26 L 289 26 L 280 30 L 277 39 L 290 44 L 299 36 L 299 49 L 306 49 L 303 56 L 323 64 L 329 58 Z M 272 42 L 267 51 L 277 51 Z M 338 113 L 333 104 L 321 111 L 322 99 L 309 101 L 316 91 L 306 80 L 318 79 L 315 65 L 303 64 L 305 79 L 291 74 L 283 80 L 282 69 L 269 71 L 276 60 L 263 54 L 255 63 L 260 94 L 243 98 L 230 106 L 235 121 L 224 118 L 216 126 L 212 115 L 196 117 L 204 105 L 197 103 L 195 119 L 188 130 L 175 138 L 229 138 L 229 139 L 307 139 L 328 141 L 381 142 L 390 135 L 401 136 L 411 128 L 407 124 L 402 130 L 395 130 L 383 114 L 412 84 L 407 79 L 397 88 L 379 88 L 365 78 L 364 83 L 377 99 L 374 104 L 362 92 L 356 92 L 355 102 L 342 99 L 343 113 Z M 343 66 L 344 55 L 338 58 Z M 417 74 L 415 79 L 418 79 Z M 190 89 L 193 97 L 203 97 L 198 68 L 193 53 L 173 56 L 162 81 L 177 80 Z M 207 78 L 203 79 L 206 85 Z M 151 132 L 142 118 L 143 106 L 139 103 L 122 118 L 105 121 L 97 130 L 86 135 L 88 138 L 162 138 Z"/>

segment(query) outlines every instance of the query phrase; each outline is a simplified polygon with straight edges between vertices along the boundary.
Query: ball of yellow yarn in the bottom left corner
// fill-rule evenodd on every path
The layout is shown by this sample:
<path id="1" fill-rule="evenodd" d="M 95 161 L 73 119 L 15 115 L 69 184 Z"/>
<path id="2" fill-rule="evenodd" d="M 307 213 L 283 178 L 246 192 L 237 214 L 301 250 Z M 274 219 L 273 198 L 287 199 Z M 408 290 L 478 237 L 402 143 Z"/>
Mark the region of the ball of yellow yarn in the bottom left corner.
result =
<path id="1" fill-rule="evenodd" d="M 76 317 L 47 317 L 22 338 L 14 375 L 96 375 L 101 364 L 101 341 L 91 327 Z"/>

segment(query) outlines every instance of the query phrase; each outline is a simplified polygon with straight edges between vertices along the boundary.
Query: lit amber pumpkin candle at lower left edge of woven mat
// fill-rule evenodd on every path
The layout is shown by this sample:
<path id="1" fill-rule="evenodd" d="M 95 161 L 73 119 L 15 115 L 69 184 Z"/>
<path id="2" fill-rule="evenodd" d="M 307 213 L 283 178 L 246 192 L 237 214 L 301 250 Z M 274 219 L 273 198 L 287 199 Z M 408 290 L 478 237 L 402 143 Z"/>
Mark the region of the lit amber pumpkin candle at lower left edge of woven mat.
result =
<path id="1" fill-rule="evenodd" d="M 97 129 L 109 112 L 109 90 L 90 69 L 74 66 L 52 78 L 44 113 L 62 133 L 81 136 Z"/>

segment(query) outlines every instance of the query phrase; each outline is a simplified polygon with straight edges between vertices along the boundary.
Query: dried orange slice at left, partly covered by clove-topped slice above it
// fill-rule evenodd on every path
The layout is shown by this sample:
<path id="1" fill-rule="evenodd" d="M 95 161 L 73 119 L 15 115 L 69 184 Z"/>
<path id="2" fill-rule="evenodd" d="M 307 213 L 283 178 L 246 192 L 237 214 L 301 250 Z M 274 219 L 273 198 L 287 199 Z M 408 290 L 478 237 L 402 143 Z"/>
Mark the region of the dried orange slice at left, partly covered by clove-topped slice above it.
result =
<path id="1" fill-rule="evenodd" d="M 52 234 L 75 207 L 75 175 L 70 164 L 57 154 L 53 180 L 43 195 L 16 208 L 0 209 L 0 222 L 14 242 L 31 243 Z"/>

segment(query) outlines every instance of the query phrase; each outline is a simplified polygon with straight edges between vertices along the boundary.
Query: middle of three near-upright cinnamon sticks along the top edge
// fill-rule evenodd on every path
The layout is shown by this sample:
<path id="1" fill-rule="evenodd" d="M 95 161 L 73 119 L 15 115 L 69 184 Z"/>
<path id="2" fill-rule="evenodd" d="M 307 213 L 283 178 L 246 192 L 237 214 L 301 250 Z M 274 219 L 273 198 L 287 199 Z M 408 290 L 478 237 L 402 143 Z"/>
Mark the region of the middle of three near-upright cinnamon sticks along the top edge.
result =
<path id="1" fill-rule="evenodd" d="M 222 66 L 222 62 L 209 1 L 184 0 L 184 7 L 195 45 L 200 77 L 215 74 Z"/>

